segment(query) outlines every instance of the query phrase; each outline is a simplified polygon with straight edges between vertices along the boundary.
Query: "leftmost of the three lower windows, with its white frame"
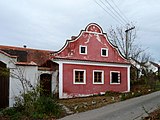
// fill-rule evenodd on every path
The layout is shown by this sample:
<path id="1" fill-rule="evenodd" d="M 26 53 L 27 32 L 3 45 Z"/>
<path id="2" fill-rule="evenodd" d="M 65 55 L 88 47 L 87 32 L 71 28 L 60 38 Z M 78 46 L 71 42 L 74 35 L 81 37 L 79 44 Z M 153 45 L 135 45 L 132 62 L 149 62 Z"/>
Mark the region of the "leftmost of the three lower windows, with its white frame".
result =
<path id="1" fill-rule="evenodd" d="M 80 69 L 73 70 L 73 83 L 74 84 L 86 84 L 86 71 Z"/>

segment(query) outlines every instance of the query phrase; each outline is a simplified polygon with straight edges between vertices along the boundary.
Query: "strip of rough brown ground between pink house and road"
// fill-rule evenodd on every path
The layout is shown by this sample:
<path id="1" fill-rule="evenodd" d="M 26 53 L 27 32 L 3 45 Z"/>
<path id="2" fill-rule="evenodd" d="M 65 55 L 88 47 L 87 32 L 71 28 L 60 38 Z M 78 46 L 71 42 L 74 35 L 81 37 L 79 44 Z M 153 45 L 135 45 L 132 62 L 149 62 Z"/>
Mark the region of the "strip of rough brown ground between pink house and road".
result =
<path id="1" fill-rule="evenodd" d="M 153 92 L 153 90 L 149 87 L 136 85 L 131 88 L 131 92 L 129 93 L 106 92 L 105 95 L 63 99 L 59 100 L 59 103 L 66 106 L 70 111 L 72 111 L 72 113 L 79 113 L 96 109 L 107 104 L 145 95 L 151 92 Z"/>

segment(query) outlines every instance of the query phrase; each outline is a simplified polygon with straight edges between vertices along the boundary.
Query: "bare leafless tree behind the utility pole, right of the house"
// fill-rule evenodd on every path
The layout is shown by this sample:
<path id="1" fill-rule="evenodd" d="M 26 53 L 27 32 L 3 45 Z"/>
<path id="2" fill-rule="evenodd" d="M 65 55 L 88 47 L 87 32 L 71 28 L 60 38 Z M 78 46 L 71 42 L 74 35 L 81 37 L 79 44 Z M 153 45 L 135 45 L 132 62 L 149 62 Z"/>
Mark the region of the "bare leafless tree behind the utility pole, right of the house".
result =
<path id="1" fill-rule="evenodd" d="M 117 27 L 114 29 L 111 27 L 109 29 L 108 38 L 109 40 L 116 45 L 121 53 L 124 56 L 132 57 L 135 60 L 144 59 L 148 60 L 150 57 L 146 53 L 144 54 L 146 49 L 142 49 L 141 45 L 135 43 L 136 39 L 136 29 L 132 29 L 128 31 L 128 35 L 126 36 L 126 30 L 131 28 L 133 24 L 127 24 L 125 27 Z M 128 45 L 126 44 L 126 37 L 128 40 Z M 127 46 L 126 46 L 127 45 Z M 128 47 L 128 53 L 126 52 L 126 47 Z"/>

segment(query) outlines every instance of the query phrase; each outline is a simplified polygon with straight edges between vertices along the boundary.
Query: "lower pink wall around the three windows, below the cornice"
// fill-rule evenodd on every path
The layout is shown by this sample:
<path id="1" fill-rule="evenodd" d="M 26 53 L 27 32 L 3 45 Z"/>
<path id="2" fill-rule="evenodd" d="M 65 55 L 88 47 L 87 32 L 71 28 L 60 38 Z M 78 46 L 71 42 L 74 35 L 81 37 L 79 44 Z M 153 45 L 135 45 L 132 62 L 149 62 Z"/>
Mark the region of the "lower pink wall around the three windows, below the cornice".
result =
<path id="1" fill-rule="evenodd" d="M 86 84 L 73 84 L 73 69 L 86 70 Z M 93 70 L 104 70 L 104 84 L 93 84 Z M 110 84 L 110 71 L 121 72 L 121 83 Z M 100 67 L 89 65 L 71 65 L 64 64 L 63 66 L 63 93 L 68 96 L 76 96 L 78 94 L 95 94 L 100 92 L 111 91 L 127 91 L 127 68 L 123 67 Z"/>

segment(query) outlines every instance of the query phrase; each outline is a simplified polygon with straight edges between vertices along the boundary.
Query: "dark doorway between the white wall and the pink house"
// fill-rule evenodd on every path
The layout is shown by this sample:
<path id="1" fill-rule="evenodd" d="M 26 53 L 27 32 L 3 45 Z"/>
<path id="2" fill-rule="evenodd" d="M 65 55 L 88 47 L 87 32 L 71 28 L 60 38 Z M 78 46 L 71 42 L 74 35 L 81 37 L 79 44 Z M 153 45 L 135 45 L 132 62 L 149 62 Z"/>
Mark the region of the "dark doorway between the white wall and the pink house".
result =
<path id="1" fill-rule="evenodd" d="M 51 79 L 52 75 L 50 74 L 42 74 L 40 75 L 40 86 L 42 88 L 41 96 L 49 96 L 51 95 Z"/>

